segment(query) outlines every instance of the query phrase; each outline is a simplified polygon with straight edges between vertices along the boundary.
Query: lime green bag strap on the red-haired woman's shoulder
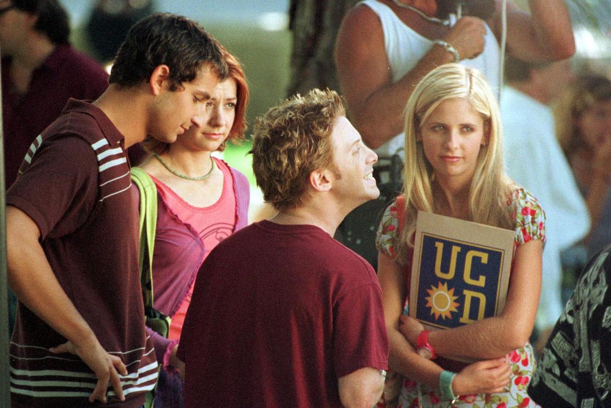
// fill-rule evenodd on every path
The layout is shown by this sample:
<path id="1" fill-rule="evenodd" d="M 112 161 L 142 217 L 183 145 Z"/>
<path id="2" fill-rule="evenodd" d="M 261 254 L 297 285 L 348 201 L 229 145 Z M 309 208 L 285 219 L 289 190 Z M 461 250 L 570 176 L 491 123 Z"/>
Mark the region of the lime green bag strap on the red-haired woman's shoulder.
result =
<path id="1" fill-rule="evenodd" d="M 157 230 L 157 188 L 139 167 L 131 168 L 131 181 L 140 192 L 140 283 L 144 305 L 153 307 L 153 249 Z"/>

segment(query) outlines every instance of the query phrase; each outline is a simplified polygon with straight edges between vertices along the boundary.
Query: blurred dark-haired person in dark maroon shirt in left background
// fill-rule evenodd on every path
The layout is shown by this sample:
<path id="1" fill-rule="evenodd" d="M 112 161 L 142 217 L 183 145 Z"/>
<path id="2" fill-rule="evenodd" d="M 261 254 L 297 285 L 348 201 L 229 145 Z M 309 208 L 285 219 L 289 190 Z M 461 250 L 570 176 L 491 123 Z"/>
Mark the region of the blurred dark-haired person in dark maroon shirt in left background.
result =
<path id="1" fill-rule="evenodd" d="M 0 1 L 4 171 L 13 184 L 27 148 L 69 98 L 95 100 L 108 74 L 68 42 L 68 15 L 57 0 Z"/>

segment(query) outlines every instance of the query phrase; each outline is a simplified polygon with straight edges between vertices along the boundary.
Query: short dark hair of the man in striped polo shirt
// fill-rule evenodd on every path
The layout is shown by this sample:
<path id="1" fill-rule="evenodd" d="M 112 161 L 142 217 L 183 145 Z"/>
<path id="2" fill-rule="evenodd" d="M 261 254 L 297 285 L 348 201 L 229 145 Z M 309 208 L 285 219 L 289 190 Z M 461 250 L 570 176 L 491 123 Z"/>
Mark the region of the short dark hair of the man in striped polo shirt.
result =
<path id="1" fill-rule="evenodd" d="M 139 20 L 127 33 L 112 65 L 110 84 L 133 87 L 145 83 L 159 65 L 170 68 L 170 90 L 196 79 L 210 64 L 219 80 L 227 78 L 219 43 L 194 21 L 170 13 Z"/>

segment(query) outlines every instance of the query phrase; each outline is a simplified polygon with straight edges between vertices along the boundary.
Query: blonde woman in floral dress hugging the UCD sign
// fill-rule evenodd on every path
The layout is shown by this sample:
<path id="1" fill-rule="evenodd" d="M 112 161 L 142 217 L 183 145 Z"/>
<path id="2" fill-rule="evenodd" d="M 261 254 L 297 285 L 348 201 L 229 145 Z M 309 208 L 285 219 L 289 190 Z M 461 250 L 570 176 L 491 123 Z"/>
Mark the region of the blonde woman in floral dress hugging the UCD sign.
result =
<path id="1" fill-rule="evenodd" d="M 534 364 L 528 339 L 541 290 L 544 214 L 503 173 L 502 162 L 499 107 L 483 75 L 458 64 L 426 75 L 406 107 L 403 231 L 397 233 L 394 202 L 376 239 L 389 366 L 405 376 L 400 407 L 536 406 L 526 387 Z M 499 316 L 430 332 L 428 341 L 419 322 L 401 318 L 419 210 L 516 231 L 507 304 Z M 425 349 L 440 357 L 415 351 L 423 339 Z M 447 356 L 482 361 L 464 366 Z"/>

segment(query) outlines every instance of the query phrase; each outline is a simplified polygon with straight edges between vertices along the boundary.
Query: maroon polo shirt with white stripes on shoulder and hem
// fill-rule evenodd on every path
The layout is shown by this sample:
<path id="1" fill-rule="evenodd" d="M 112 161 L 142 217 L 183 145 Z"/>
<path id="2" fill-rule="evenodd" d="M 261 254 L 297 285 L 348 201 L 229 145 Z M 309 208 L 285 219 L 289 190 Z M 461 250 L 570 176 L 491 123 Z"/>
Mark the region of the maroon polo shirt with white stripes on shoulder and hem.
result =
<path id="1" fill-rule="evenodd" d="M 7 204 L 38 225 L 40 243 L 67 296 L 106 351 L 121 357 L 126 402 L 109 387 L 106 406 L 140 407 L 157 362 L 144 328 L 138 269 L 139 218 L 130 191 L 123 136 L 100 109 L 70 100 L 37 137 L 7 192 Z M 48 348 L 65 343 L 18 304 L 10 344 L 13 407 L 98 406 L 97 382 L 78 357 Z"/>

